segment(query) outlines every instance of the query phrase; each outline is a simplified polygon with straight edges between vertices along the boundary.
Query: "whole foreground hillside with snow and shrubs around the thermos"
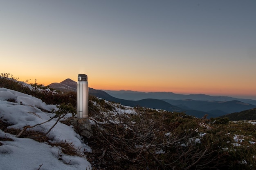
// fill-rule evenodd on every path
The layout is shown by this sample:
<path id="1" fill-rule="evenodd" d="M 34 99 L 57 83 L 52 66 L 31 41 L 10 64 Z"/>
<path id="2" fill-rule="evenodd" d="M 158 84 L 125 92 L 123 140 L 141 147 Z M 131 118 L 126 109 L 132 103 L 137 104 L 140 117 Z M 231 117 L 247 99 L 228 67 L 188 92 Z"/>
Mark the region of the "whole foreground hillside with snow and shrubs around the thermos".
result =
<path id="1" fill-rule="evenodd" d="M 255 122 L 197 119 L 180 112 L 129 107 L 95 96 L 89 96 L 90 118 L 77 120 L 75 95 L 68 94 L 69 100 L 65 101 L 66 94 L 50 89 L 5 83 L 0 79 L 3 170 L 256 168 Z M 6 88 L 9 85 L 43 101 Z M 54 96 L 65 103 L 45 103 L 54 103 L 50 101 Z M 72 124 L 75 120 L 87 123 L 78 126 Z M 91 135 L 81 133 L 85 125 L 90 125 Z"/>

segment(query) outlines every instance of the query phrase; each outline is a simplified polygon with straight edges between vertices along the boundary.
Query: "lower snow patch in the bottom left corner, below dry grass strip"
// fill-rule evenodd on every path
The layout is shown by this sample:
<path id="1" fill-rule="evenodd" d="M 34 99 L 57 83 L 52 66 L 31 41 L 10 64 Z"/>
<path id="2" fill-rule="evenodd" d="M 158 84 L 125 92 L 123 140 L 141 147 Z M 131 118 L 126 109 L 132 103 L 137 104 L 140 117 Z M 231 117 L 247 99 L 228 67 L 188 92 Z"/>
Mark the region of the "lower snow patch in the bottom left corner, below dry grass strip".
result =
<path id="1" fill-rule="evenodd" d="M 52 147 L 33 139 L 16 138 L 13 135 L 8 137 L 13 141 L 1 141 L 4 144 L 0 146 L 1 170 L 36 170 L 40 165 L 41 170 L 80 170 L 90 166 L 86 159 L 78 156 L 63 155 L 63 160 L 58 160 L 61 149 L 56 146 Z"/>

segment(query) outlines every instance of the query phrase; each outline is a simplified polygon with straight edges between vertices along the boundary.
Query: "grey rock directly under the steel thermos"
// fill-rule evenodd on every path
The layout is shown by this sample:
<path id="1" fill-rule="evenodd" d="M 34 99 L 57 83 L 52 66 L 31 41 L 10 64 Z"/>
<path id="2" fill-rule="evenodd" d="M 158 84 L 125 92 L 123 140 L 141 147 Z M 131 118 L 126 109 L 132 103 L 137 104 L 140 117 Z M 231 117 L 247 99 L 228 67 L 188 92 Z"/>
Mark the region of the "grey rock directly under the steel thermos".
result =
<path id="1" fill-rule="evenodd" d="M 92 136 L 92 126 L 88 118 L 74 118 L 70 121 L 76 132 L 85 138 Z"/>

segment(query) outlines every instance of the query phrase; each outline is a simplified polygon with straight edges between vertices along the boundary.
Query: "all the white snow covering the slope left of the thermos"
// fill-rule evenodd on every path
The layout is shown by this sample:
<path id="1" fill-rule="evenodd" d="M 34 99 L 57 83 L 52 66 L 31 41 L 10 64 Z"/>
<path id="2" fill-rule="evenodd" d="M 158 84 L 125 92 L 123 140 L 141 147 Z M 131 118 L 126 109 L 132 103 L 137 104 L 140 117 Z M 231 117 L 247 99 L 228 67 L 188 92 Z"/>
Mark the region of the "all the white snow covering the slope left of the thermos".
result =
<path id="1" fill-rule="evenodd" d="M 13 124 L 8 128 L 18 128 L 26 125 L 36 125 L 49 120 L 54 114 L 42 110 L 57 110 L 56 105 L 46 105 L 40 99 L 0 88 L 0 118 L 2 121 Z M 71 116 L 71 114 L 69 114 Z M 33 130 L 47 132 L 54 125 L 56 119 L 36 126 Z M 86 170 L 91 169 L 91 164 L 86 160 L 83 150 L 92 152 L 81 136 L 72 126 L 58 122 L 50 131 L 51 142 L 67 141 L 81 150 L 81 156 L 63 154 L 61 148 L 40 143 L 33 139 L 17 138 L 15 135 L 4 133 L 0 130 L 0 165 L 1 170 Z M 2 141 L 12 139 L 13 141 Z M 61 158 L 61 159 L 60 159 Z"/>

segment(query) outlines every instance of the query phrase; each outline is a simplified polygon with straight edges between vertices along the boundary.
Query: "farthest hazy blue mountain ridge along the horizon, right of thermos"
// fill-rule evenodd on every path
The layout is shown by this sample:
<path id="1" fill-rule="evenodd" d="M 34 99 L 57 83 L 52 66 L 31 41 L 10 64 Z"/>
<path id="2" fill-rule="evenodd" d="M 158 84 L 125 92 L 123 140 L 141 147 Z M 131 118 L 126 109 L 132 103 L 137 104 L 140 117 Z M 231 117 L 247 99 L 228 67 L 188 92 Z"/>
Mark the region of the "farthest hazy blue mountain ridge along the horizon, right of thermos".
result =
<path id="1" fill-rule="evenodd" d="M 249 103 L 256 105 L 256 100 L 244 99 L 244 98 L 234 98 L 229 96 L 209 96 L 206 94 L 175 94 L 173 92 L 136 92 L 131 90 L 103 90 L 110 94 L 111 96 L 122 98 L 126 100 L 141 100 L 145 98 L 155 98 L 155 99 L 172 99 L 172 100 L 184 100 L 192 99 L 195 101 L 242 101 L 244 103 Z"/>

